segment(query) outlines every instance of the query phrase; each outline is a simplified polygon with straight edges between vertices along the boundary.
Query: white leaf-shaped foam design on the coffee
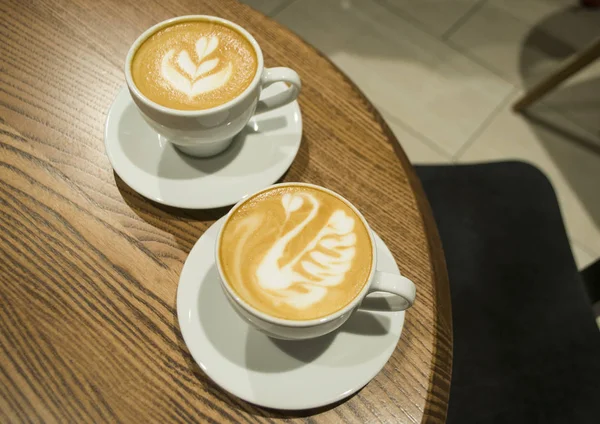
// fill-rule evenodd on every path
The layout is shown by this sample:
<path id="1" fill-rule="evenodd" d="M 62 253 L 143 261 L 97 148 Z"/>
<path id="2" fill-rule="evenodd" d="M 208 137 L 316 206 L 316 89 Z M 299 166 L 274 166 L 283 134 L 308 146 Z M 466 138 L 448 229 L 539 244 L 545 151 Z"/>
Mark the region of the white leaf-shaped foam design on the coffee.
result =
<path id="1" fill-rule="evenodd" d="M 219 58 L 205 60 L 219 46 L 219 38 L 216 36 L 201 37 L 196 41 L 196 64 L 187 50 L 177 54 L 175 66 L 175 49 L 171 49 L 164 55 L 161 62 L 161 75 L 175 90 L 195 97 L 209 91 L 216 90 L 227 83 L 231 77 L 233 66 L 228 63 L 222 70 L 214 74 L 204 76 L 214 70 L 219 64 Z M 183 71 L 183 74 L 179 69 Z"/>

